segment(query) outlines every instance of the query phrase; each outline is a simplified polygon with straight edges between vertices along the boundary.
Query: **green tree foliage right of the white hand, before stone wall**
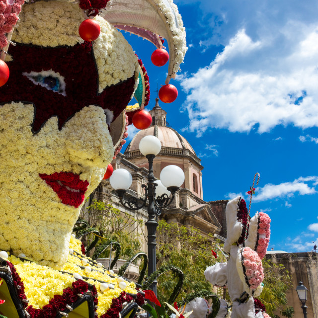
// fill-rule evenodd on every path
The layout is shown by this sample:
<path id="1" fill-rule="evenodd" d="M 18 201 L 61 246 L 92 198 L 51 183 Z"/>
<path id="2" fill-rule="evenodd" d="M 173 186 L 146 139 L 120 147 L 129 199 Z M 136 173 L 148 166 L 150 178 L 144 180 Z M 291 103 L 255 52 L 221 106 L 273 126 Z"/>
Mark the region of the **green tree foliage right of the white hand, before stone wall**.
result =
<path id="1" fill-rule="evenodd" d="M 287 306 L 286 291 L 292 286 L 292 279 L 284 265 L 272 263 L 269 259 L 263 258 L 264 288 L 258 299 L 265 305 L 266 313 L 279 318 L 274 313 L 280 310 L 283 317 L 292 318 L 294 308 Z"/>

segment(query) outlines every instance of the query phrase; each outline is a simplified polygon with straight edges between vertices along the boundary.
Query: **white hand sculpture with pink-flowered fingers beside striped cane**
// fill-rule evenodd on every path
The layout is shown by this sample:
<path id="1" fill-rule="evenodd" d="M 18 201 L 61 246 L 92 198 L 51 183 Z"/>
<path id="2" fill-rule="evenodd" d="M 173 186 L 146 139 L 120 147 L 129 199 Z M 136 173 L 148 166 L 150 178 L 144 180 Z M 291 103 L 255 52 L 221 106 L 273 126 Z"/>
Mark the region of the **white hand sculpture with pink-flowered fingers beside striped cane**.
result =
<path id="1" fill-rule="evenodd" d="M 226 218 L 224 251 L 230 253 L 230 258 L 226 263 L 208 267 L 205 277 L 213 285 L 228 286 L 233 302 L 232 318 L 268 318 L 264 306 L 253 297 L 262 292 L 264 273 L 261 259 L 266 254 L 271 220 L 261 212 L 248 222 L 248 210 L 240 197 L 228 203 Z"/>

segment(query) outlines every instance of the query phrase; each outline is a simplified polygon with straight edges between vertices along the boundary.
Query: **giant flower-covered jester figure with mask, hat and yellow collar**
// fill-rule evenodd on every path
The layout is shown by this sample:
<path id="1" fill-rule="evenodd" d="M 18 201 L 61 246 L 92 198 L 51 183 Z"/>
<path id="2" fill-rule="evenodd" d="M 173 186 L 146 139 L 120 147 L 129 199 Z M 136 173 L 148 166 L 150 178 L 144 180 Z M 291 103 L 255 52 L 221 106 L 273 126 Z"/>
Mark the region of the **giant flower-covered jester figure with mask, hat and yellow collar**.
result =
<path id="1" fill-rule="evenodd" d="M 120 11 L 128 0 L 30 1 L 21 10 L 22 2 L 0 1 L 2 26 L 10 24 L 0 29 L 10 71 L 0 87 L 0 251 L 8 254 L 0 256 L 0 314 L 126 316 L 133 309 L 122 312 L 123 304 L 140 300 L 135 285 L 86 259 L 71 234 L 127 137 L 125 108 L 145 78 L 114 25 L 144 32 L 157 47 L 159 34 L 167 38 L 168 82 L 186 51 L 182 20 L 171 0 L 141 0 L 145 12 L 154 8 L 158 29 L 143 25 L 140 6 Z M 94 41 L 79 36 L 87 18 L 100 26 Z"/>

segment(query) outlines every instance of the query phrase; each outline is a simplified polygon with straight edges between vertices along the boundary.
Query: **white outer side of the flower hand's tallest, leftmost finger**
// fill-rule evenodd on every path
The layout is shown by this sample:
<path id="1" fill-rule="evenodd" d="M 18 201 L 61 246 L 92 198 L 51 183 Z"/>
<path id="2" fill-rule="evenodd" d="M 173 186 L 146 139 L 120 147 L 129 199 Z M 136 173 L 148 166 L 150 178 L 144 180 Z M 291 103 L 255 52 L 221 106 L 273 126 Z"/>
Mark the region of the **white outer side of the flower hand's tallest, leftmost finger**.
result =
<path id="1" fill-rule="evenodd" d="M 237 220 L 239 199 L 240 197 L 238 196 L 229 201 L 225 210 L 227 217 L 227 239 L 224 242 L 224 251 L 227 253 L 230 251 L 231 245 L 237 242 L 243 230 L 243 225 Z"/>

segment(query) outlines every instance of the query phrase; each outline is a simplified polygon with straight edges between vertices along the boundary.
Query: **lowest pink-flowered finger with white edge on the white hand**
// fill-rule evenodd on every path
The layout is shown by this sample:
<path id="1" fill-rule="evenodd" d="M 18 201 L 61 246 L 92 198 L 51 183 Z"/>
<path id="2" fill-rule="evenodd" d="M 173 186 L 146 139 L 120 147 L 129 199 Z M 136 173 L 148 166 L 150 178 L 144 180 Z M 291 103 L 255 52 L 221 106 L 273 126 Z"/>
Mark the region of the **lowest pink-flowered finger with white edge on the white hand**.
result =
<path id="1" fill-rule="evenodd" d="M 262 262 L 255 251 L 244 247 L 238 254 L 237 268 L 241 280 L 245 282 L 245 290 L 250 295 L 262 283 L 264 271 Z"/>

